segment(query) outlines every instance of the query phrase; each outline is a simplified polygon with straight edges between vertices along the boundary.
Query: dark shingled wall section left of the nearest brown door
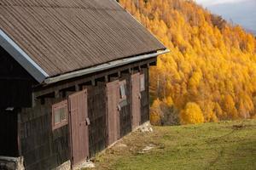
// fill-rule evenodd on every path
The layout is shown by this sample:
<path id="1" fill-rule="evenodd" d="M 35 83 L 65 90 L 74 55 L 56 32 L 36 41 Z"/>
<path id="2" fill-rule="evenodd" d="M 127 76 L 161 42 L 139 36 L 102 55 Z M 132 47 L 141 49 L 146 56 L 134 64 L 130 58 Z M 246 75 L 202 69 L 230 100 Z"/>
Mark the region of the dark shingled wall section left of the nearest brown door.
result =
<path id="1" fill-rule="evenodd" d="M 52 105 L 63 99 L 45 99 L 20 113 L 20 151 L 27 170 L 51 169 L 70 159 L 69 128 L 52 131 Z"/>

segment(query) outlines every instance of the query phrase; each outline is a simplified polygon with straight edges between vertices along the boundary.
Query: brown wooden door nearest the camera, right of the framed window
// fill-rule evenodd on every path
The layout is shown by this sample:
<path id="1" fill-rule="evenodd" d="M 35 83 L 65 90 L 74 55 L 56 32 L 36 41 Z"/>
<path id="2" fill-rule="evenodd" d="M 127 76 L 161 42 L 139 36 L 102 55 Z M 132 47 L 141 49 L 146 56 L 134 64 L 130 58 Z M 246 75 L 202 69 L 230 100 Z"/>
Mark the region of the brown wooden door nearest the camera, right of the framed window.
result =
<path id="1" fill-rule="evenodd" d="M 73 165 L 89 158 L 87 90 L 69 96 L 71 155 Z M 88 121 L 88 119 L 87 119 Z"/>

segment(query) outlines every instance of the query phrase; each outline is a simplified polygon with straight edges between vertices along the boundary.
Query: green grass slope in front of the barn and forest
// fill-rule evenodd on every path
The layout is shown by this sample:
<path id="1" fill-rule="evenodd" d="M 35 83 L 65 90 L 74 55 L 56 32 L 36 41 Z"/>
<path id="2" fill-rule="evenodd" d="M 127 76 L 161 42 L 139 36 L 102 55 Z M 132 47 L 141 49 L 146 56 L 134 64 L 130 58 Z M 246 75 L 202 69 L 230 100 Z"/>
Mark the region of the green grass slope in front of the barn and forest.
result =
<path id="1" fill-rule="evenodd" d="M 148 144 L 154 149 L 141 154 Z M 254 170 L 256 120 L 154 127 L 153 133 L 131 133 L 94 161 L 96 169 Z"/>

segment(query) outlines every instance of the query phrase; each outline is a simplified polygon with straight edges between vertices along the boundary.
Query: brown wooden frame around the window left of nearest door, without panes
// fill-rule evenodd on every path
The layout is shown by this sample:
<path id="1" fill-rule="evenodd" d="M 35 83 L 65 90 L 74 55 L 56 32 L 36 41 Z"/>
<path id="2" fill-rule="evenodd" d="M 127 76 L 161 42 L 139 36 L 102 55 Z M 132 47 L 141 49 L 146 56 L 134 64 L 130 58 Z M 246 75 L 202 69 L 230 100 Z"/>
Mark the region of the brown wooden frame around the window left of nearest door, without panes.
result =
<path id="1" fill-rule="evenodd" d="M 57 110 L 60 110 L 61 108 L 65 109 L 65 119 L 63 119 L 61 122 L 55 123 L 55 114 Z M 51 113 L 51 118 L 52 118 L 52 130 L 54 131 L 55 129 L 58 129 L 60 127 L 66 126 L 68 124 L 68 107 L 67 107 L 67 99 L 64 101 L 61 101 L 59 103 L 56 103 L 52 105 L 52 113 Z"/>

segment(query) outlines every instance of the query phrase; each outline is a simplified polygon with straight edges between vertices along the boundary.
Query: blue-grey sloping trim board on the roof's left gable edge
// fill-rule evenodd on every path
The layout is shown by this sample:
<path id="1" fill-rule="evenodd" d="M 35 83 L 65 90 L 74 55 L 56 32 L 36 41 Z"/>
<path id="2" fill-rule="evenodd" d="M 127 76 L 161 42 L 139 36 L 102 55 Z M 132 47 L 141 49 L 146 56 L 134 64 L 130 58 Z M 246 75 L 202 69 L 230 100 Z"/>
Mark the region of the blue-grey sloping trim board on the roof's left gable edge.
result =
<path id="1" fill-rule="evenodd" d="M 2 29 L 0 45 L 38 82 L 44 82 L 45 78 L 49 77 Z"/>

